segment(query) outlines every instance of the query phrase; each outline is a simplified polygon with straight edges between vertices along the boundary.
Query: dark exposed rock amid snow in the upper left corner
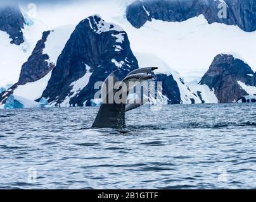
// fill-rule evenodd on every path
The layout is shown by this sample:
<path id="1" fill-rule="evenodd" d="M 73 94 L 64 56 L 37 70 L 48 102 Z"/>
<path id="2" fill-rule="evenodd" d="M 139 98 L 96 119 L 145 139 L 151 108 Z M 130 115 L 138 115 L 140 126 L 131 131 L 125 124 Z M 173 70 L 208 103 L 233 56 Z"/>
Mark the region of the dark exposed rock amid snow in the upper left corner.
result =
<path id="1" fill-rule="evenodd" d="M 10 35 L 11 44 L 20 45 L 24 42 L 22 33 L 24 23 L 18 4 L 0 6 L 0 30 Z"/>

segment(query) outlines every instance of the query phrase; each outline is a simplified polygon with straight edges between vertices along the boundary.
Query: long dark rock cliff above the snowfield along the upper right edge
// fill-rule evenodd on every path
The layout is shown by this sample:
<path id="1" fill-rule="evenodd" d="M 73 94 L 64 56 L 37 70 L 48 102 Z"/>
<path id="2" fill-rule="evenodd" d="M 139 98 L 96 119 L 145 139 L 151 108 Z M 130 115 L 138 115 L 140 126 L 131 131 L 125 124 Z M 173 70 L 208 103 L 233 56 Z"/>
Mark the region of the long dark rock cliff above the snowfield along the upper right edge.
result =
<path id="1" fill-rule="evenodd" d="M 127 7 L 127 20 L 140 28 L 152 18 L 163 21 L 184 21 L 204 15 L 208 23 L 238 25 L 246 32 L 256 30 L 255 0 L 226 0 L 227 18 L 219 18 L 219 0 L 144 0 L 134 1 Z"/>

